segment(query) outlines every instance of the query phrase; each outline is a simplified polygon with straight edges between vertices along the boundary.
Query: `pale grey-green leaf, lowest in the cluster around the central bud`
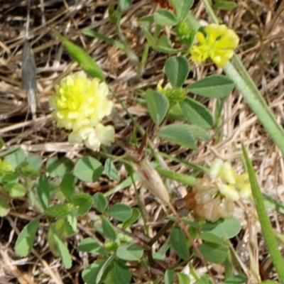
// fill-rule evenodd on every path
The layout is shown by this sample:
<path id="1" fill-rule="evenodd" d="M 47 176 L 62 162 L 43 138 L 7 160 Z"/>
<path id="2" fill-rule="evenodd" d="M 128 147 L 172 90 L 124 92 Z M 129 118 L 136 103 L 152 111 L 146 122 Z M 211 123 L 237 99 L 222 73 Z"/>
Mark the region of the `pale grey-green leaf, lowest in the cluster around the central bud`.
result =
<path id="1" fill-rule="evenodd" d="M 163 126 L 157 135 L 172 143 L 176 143 L 187 148 L 195 148 L 195 137 L 192 129 L 187 124 L 170 124 Z"/>

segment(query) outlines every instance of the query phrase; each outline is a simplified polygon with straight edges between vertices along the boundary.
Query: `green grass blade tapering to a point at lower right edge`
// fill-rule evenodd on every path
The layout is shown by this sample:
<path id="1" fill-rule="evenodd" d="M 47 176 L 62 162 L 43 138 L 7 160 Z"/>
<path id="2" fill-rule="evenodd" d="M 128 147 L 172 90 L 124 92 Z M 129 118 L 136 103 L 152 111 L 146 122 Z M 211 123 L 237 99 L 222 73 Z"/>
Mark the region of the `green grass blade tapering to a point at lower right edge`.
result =
<path id="1" fill-rule="evenodd" d="M 246 160 L 246 166 L 248 168 L 249 180 L 251 182 L 251 192 L 253 194 L 254 204 L 256 206 L 256 211 L 258 212 L 258 219 L 261 222 L 261 230 L 263 233 L 263 238 L 266 241 L 266 246 L 269 253 L 271 254 L 271 259 L 273 261 L 275 270 L 278 273 L 280 283 L 284 284 L 284 263 L 281 253 L 278 249 L 278 244 L 275 238 L 271 222 L 266 213 L 266 208 L 263 202 L 263 195 L 259 188 L 258 182 L 256 180 L 256 173 L 254 173 L 253 165 L 251 160 L 249 160 L 249 155 L 246 152 L 246 148 L 242 145 L 244 158 Z"/>

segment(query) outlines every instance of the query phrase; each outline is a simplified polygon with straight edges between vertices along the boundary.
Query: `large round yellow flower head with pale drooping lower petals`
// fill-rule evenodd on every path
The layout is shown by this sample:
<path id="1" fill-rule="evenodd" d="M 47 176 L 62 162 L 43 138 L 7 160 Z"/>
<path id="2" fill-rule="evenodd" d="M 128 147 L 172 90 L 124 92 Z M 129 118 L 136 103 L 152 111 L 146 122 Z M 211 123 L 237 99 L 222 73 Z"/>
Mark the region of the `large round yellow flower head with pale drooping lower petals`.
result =
<path id="1" fill-rule="evenodd" d="M 55 87 L 49 104 L 58 126 L 72 131 L 68 137 L 70 143 L 84 141 L 85 146 L 97 151 L 101 144 L 114 141 L 114 128 L 101 124 L 114 107 L 107 99 L 108 93 L 105 82 L 98 78 L 89 80 L 82 71 L 65 77 Z"/>

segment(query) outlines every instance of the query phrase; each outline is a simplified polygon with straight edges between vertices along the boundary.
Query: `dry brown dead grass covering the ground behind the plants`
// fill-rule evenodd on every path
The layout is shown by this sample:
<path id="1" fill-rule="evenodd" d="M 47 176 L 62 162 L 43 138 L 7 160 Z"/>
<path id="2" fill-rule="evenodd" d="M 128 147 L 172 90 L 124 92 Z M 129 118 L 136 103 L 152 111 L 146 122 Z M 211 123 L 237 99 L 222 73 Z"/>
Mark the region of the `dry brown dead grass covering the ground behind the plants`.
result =
<path id="1" fill-rule="evenodd" d="M 138 27 L 137 20 L 141 16 L 153 13 L 157 5 L 151 0 L 133 2 L 134 4 L 125 11 L 121 19 L 121 31 L 131 50 L 141 57 L 146 40 Z M 272 0 L 237 2 L 236 10 L 219 13 L 219 17 L 239 34 L 241 46 L 237 53 L 266 102 L 273 109 L 275 117 L 280 124 L 283 124 L 284 4 L 282 1 Z M 73 4 L 73 1 L 45 1 L 44 18 L 46 23 L 92 55 L 104 70 L 110 87 L 126 104 L 129 112 L 136 117 L 141 126 L 146 128 L 149 118 L 146 109 L 136 102 L 138 89 L 155 86 L 158 80 L 163 78 L 162 69 L 167 55 L 151 50 L 143 76 L 139 82 L 136 82 L 136 67 L 124 53 L 101 40 L 82 35 L 82 28 L 90 28 L 111 38 L 117 38 L 114 25 L 109 20 L 108 4 L 107 0 L 78 1 L 77 4 Z M 202 4 L 197 5 L 193 12 L 200 20 L 207 20 Z M 44 158 L 60 156 L 62 153 L 70 158 L 81 156 L 84 148 L 68 145 L 67 133 L 55 126 L 48 107 L 48 97 L 53 94 L 55 85 L 62 77 L 79 70 L 79 67 L 70 60 L 60 41 L 45 25 L 38 1 L 32 1 L 30 40 L 38 74 L 38 109 L 37 118 L 33 122 L 31 116 L 27 117 L 26 94 L 21 87 L 21 53 L 25 40 L 26 1 L 13 1 L 13 3 L 1 1 L 0 15 L 0 135 L 6 143 L 5 147 L 21 146 L 25 151 L 43 155 Z M 215 72 L 212 65 L 202 65 L 198 68 L 192 65 L 192 79 L 189 79 L 188 83 Z M 207 104 L 209 109 L 214 110 L 214 100 L 210 100 Z M 170 155 L 186 157 L 186 160 L 204 165 L 209 165 L 214 156 L 218 156 L 232 161 L 236 170 L 241 172 L 243 165 L 239 159 L 240 144 L 244 143 L 251 154 L 263 192 L 284 203 L 283 158 L 237 91 L 229 96 L 222 115 L 224 121 L 221 128 L 222 141 L 217 142 L 212 138 L 212 141 L 200 144 L 198 150 L 192 152 L 186 151 L 185 148 L 172 148 L 160 141 L 154 140 L 154 144 L 160 149 L 163 147 Z M 111 120 L 116 128 L 118 140 L 114 145 L 114 153 L 122 155 L 129 141 L 132 126 L 126 112 L 118 103 Z M 187 171 L 180 165 L 170 165 L 167 160 L 165 163 L 180 173 Z M 121 171 L 121 176 L 123 175 Z M 106 190 L 105 187 L 96 186 Z M 120 198 L 124 202 L 135 204 L 135 200 L 131 200 L 133 198 L 131 190 L 112 198 L 114 200 Z M 184 195 L 185 189 L 180 189 L 180 192 Z M 143 195 L 143 192 L 141 194 Z M 77 253 L 75 248 L 83 237 L 95 237 L 92 228 L 88 225 L 88 217 L 82 217 L 80 231 L 70 240 L 75 264 L 70 271 L 65 271 L 60 261 L 53 258 L 48 249 L 47 228 L 44 224 L 31 256 L 19 259 L 13 253 L 18 232 L 33 214 L 27 208 L 27 204 L 25 200 L 21 206 L 14 204 L 11 214 L 1 218 L 0 283 L 82 283 L 80 272 L 92 260 L 84 253 Z M 161 208 L 153 202 L 145 205 L 149 223 L 160 222 Z M 283 232 L 283 217 L 275 212 L 269 214 L 275 231 Z M 266 278 L 272 279 L 274 271 L 271 269 L 271 259 L 263 244 L 253 204 L 240 203 L 236 209 L 236 216 L 241 220 L 242 231 L 234 251 L 249 277 L 249 283 L 258 283 Z M 154 226 L 151 234 L 155 234 Z M 218 271 L 217 266 L 214 270 L 222 274 L 222 269 Z M 143 277 L 138 272 L 136 274 L 135 283 L 142 283 Z"/>

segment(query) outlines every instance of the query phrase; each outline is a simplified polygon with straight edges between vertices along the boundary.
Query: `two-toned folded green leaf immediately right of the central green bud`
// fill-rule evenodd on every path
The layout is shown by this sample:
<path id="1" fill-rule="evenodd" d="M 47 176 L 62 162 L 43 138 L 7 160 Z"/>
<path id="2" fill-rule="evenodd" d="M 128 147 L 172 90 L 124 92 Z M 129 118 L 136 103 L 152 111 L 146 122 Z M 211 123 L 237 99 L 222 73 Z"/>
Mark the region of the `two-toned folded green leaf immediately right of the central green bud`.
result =
<path id="1" fill-rule="evenodd" d="M 196 124 L 204 129 L 209 129 L 213 126 L 214 121 L 212 115 L 203 104 L 187 97 L 180 102 L 180 108 L 185 116 L 185 119 L 190 124 Z"/>

